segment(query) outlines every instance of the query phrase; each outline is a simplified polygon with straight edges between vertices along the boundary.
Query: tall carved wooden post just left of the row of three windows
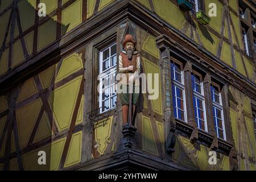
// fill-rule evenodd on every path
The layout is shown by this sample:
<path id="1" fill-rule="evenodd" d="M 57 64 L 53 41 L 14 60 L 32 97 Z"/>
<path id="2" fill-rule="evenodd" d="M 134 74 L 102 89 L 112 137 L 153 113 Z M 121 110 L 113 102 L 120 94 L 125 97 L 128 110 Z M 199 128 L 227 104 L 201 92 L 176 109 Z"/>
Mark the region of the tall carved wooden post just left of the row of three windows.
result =
<path id="1" fill-rule="evenodd" d="M 162 65 L 163 76 L 163 96 L 164 96 L 164 121 L 167 132 L 166 147 L 167 152 L 174 152 L 174 146 L 176 143 L 175 135 L 175 120 L 172 110 L 172 86 L 171 86 L 171 58 L 170 49 L 168 48 L 170 42 L 164 35 L 160 35 L 156 38 L 156 44 L 160 49 L 160 63 Z"/>

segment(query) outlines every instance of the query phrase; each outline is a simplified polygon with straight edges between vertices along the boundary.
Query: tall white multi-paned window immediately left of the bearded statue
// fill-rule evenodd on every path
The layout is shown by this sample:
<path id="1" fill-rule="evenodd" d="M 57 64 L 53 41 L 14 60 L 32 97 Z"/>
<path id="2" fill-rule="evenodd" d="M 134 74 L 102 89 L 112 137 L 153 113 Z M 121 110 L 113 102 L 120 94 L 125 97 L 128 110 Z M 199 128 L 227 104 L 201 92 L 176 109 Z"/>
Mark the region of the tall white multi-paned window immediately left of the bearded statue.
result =
<path id="1" fill-rule="evenodd" d="M 100 51 L 100 113 L 114 109 L 117 104 L 117 44 Z"/>

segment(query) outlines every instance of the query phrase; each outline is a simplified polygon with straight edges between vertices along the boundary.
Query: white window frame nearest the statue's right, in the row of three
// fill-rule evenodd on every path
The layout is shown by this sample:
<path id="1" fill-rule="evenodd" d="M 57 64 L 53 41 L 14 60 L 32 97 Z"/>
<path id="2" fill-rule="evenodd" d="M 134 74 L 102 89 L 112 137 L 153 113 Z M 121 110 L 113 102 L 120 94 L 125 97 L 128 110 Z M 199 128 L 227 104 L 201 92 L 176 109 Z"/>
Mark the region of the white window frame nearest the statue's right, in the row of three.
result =
<path id="1" fill-rule="evenodd" d="M 178 64 L 178 65 L 180 65 L 180 70 L 181 70 L 181 72 L 180 72 L 180 75 L 181 75 L 181 82 L 179 82 L 179 81 L 177 81 L 177 80 L 175 80 L 175 70 L 174 69 L 172 69 L 172 66 L 171 66 L 171 84 L 172 84 L 172 86 L 174 86 L 175 88 L 179 88 L 180 90 L 182 90 L 183 92 L 183 107 L 184 107 L 184 121 L 182 120 L 182 119 L 180 119 L 179 118 L 179 116 L 178 116 L 178 112 L 177 112 L 177 110 L 179 109 L 179 107 L 177 106 L 177 94 L 176 94 L 176 89 L 175 89 L 175 95 L 174 95 L 174 90 L 172 89 L 172 107 L 173 107 L 173 109 L 174 109 L 174 112 L 175 112 L 175 114 L 176 114 L 176 116 L 177 117 L 175 117 L 175 114 L 174 114 L 174 117 L 176 118 L 176 119 L 180 119 L 181 121 L 183 121 L 183 122 L 188 122 L 188 119 L 187 119 L 187 104 L 186 104 L 186 99 L 185 99 L 185 80 L 184 80 L 184 68 L 183 68 L 183 64 L 180 62 L 180 61 L 177 61 L 177 60 L 172 60 L 171 59 L 171 64 Z M 171 65 L 170 64 L 170 65 Z M 175 67 L 173 67 L 173 68 L 175 68 Z M 172 73 L 172 72 L 174 72 L 174 73 Z M 172 77 L 172 75 L 174 75 L 174 77 Z M 171 87 L 172 87 L 171 86 Z M 173 99 L 173 97 L 175 97 L 175 102 L 176 102 L 176 108 L 174 107 L 174 99 Z M 179 97 L 178 97 L 179 98 Z M 180 109 L 181 110 L 181 109 Z"/>

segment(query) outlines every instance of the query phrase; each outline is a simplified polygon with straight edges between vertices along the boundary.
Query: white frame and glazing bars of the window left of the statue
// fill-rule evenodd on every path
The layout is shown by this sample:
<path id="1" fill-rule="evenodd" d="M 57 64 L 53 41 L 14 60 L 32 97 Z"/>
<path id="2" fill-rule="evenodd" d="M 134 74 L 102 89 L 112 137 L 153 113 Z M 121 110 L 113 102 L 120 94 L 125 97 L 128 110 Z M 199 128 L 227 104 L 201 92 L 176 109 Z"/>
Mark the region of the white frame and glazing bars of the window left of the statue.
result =
<path id="1" fill-rule="evenodd" d="M 116 105 L 114 107 L 112 107 L 112 104 L 111 104 L 111 98 L 113 97 L 117 97 L 117 92 L 115 91 L 115 93 L 112 95 L 112 86 L 115 87 L 115 90 L 117 90 L 117 84 L 116 82 L 110 84 L 110 80 L 111 80 L 111 76 L 114 75 L 114 74 L 117 74 L 117 63 L 118 63 L 118 60 L 117 60 L 117 63 L 116 65 L 113 65 L 111 66 L 111 58 L 116 56 L 116 59 L 117 59 L 117 53 L 115 53 L 114 55 L 111 56 L 111 47 L 115 46 L 117 43 L 114 43 L 114 44 L 111 44 L 110 46 L 106 47 L 105 49 L 102 49 L 102 51 L 100 51 L 100 74 L 99 74 L 99 78 L 100 78 L 100 96 L 99 96 L 99 107 L 100 107 L 100 113 L 105 113 L 106 111 L 109 111 L 109 110 L 112 110 L 116 107 Z M 102 64 L 103 64 L 103 61 L 105 60 L 102 60 L 103 59 L 103 52 L 106 51 L 107 49 L 109 49 L 109 68 L 106 69 L 105 71 L 102 71 Z M 102 91 L 105 90 L 102 89 L 102 85 L 103 85 L 103 79 L 108 77 L 109 76 L 109 84 L 108 86 L 106 86 L 106 88 L 108 88 L 108 91 L 109 91 L 109 97 L 106 98 L 105 100 L 102 100 Z M 109 100 L 109 109 L 106 109 L 104 111 L 102 111 L 102 102 L 106 101 L 106 100 Z"/>

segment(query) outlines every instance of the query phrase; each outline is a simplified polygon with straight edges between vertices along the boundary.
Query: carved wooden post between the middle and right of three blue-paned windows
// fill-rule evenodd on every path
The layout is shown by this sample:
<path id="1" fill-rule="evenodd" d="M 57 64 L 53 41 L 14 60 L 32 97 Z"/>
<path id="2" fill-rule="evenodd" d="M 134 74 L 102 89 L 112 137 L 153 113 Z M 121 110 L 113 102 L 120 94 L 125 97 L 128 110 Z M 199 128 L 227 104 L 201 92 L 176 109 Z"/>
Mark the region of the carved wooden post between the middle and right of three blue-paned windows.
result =
<path id="1" fill-rule="evenodd" d="M 210 90 L 210 84 L 212 80 L 210 78 L 210 74 L 207 73 L 204 77 L 204 94 L 205 94 L 205 111 L 207 115 L 207 129 L 208 133 L 214 137 L 212 144 L 210 146 L 210 150 L 216 150 L 218 148 L 218 140 L 217 140 L 217 132 L 214 129 L 214 116 L 212 112 L 213 104 L 212 104 L 212 96 Z"/>

